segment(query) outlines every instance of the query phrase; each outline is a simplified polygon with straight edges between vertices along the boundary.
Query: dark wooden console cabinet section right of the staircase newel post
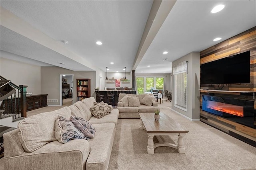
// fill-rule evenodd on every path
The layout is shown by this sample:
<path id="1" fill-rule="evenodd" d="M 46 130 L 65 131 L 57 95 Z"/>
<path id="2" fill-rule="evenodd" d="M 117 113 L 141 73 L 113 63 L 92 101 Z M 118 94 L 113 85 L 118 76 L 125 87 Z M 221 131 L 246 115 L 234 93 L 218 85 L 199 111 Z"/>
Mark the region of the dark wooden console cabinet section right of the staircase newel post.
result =
<path id="1" fill-rule="evenodd" d="M 38 94 L 27 96 L 27 111 L 47 106 L 47 95 Z"/>

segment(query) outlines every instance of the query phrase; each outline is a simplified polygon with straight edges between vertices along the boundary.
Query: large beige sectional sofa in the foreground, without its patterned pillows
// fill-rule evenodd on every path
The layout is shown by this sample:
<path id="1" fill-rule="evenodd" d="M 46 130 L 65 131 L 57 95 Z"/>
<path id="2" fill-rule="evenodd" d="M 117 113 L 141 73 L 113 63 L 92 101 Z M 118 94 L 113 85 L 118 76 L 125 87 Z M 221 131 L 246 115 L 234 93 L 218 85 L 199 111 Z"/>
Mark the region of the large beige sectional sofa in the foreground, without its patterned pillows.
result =
<path id="1" fill-rule="evenodd" d="M 108 169 L 119 111 L 113 109 L 98 119 L 90 112 L 93 102 L 93 97 L 86 98 L 70 107 L 22 120 L 17 129 L 4 134 L 4 169 Z M 83 117 L 94 126 L 96 131 L 92 139 L 74 139 L 65 144 L 56 140 L 56 119 L 58 116 L 69 119 L 71 115 Z"/>

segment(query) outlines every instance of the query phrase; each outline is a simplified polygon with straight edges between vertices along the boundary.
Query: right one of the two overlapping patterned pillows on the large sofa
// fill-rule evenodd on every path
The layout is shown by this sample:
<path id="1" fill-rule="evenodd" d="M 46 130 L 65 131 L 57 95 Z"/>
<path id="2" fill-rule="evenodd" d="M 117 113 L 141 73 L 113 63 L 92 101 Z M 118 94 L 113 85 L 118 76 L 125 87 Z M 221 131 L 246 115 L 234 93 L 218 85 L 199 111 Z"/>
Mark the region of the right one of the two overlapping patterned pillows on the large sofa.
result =
<path id="1" fill-rule="evenodd" d="M 76 117 L 71 115 L 70 121 L 79 129 L 85 137 L 93 138 L 95 133 L 95 128 L 92 126 L 90 122 L 85 120 L 82 117 Z"/>

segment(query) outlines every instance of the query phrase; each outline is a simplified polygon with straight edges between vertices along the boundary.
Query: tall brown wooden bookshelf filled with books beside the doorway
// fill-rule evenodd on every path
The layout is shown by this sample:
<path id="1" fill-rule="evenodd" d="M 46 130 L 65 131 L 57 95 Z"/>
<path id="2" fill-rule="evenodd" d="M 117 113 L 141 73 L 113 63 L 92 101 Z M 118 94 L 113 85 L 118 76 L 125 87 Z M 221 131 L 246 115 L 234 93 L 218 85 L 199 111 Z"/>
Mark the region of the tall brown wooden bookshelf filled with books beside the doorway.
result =
<path id="1" fill-rule="evenodd" d="M 76 99 L 81 101 L 91 97 L 91 79 L 77 78 L 76 79 Z"/>

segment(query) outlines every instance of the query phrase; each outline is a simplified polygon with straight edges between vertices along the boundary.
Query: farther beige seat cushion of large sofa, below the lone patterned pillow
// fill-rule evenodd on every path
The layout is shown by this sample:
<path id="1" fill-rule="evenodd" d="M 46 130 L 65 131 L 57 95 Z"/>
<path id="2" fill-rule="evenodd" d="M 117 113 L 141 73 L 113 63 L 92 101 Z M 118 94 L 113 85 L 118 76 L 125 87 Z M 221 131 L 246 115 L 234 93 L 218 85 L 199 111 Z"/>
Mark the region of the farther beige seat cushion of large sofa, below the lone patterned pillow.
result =
<path id="1" fill-rule="evenodd" d="M 100 124 L 100 123 L 115 123 L 115 124 L 117 124 L 118 116 L 119 116 L 118 109 L 113 109 L 110 114 L 105 115 L 101 119 L 98 119 L 96 117 L 91 117 L 89 122 L 92 124 Z"/>

